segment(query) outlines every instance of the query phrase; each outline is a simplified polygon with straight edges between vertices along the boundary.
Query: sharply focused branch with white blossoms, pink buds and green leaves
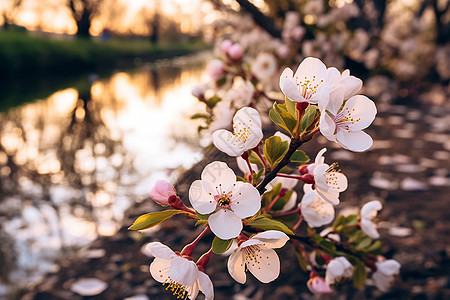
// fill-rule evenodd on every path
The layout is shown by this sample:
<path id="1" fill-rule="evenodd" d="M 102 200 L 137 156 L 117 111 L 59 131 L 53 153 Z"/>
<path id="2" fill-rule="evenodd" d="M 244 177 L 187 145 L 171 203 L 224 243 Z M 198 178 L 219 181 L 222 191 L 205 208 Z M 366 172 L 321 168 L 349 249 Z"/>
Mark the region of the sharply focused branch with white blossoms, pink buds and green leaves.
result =
<path id="1" fill-rule="evenodd" d="M 168 182 L 158 181 L 150 196 L 171 209 L 142 215 L 129 228 L 142 231 L 175 214 L 184 214 L 204 228 L 180 252 L 159 242 L 147 245 L 155 256 L 152 277 L 177 298 L 195 299 L 199 291 L 206 299 L 214 298 L 206 274 L 213 253 L 231 253 L 228 272 L 241 284 L 247 271 L 262 283 L 276 280 L 280 259 L 274 249 L 287 242 L 299 267 L 309 272 L 307 286 L 313 293 L 331 293 L 347 281 L 363 288 L 369 274 L 386 291 L 399 273 L 400 264 L 381 255 L 376 225 L 381 203 L 371 201 L 358 215 L 335 218 L 347 177 L 337 163 L 325 163 L 325 148 L 311 163 L 299 149 L 319 133 L 350 151 L 370 148 L 372 138 L 363 130 L 377 111 L 373 101 L 358 94 L 362 81 L 348 70 L 340 73 L 309 57 L 295 73 L 286 68 L 279 84 L 286 98 L 284 103 L 273 103 L 269 117 L 286 134 L 277 132 L 263 139 L 260 114 L 251 107 L 236 112 L 233 131 L 219 129 L 212 134 L 217 149 L 236 157 L 242 177 L 224 162 L 208 164 L 189 188 L 191 207 Z M 295 190 L 299 182 L 302 196 Z M 194 255 L 197 244 L 211 234 L 215 237 L 210 250 Z"/>

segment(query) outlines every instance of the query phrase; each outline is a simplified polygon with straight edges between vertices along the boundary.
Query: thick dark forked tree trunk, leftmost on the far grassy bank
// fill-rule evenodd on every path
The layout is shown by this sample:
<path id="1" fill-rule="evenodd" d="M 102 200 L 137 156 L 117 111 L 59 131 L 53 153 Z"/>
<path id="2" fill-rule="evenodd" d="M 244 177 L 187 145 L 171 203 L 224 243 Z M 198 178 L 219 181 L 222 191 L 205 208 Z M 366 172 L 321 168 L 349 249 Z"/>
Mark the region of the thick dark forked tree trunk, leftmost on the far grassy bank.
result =
<path id="1" fill-rule="evenodd" d="M 92 18 L 98 14 L 103 0 L 68 0 L 73 18 L 77 24 L 77 36 L 89 38 Z"/>

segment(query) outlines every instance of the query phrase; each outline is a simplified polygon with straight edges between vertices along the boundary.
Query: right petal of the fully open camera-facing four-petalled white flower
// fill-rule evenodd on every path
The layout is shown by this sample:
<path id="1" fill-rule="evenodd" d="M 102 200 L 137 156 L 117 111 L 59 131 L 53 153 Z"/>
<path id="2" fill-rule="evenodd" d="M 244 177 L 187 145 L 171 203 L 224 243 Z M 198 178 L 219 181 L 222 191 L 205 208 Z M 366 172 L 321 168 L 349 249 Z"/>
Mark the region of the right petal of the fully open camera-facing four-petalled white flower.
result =
<path id="1" fill-rule="evenodd" d="M 231 198 L 231 209 L 241 219 L 251 217 L 261 208 L 258 190 L 248 182 L 236 182 Z"/>

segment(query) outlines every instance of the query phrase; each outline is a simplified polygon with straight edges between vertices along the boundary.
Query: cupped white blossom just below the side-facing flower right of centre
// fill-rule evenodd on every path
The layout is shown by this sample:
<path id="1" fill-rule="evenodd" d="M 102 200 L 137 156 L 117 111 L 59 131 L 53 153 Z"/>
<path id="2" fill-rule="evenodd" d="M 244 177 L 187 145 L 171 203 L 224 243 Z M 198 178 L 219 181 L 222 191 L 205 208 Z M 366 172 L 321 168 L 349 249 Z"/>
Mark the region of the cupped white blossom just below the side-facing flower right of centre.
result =
<path id="1" fill-rule="evenodd" d="M 302 198 L 301 210 L 308 226 L 320 227 L 331 223 L 334 219 L 334 206 L 322 199 L 310 184 L 305 184 L 303 190 L 305 194 Z"/>

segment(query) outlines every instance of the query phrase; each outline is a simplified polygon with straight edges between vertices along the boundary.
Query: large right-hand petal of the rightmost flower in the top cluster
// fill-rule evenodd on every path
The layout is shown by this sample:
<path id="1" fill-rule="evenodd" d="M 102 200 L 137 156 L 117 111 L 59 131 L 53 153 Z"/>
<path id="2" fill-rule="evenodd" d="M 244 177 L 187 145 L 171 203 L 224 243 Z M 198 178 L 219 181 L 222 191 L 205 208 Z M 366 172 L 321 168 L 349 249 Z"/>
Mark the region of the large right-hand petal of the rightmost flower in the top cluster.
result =
<path id="1" fill-rule="evenodd" d="M 349 121 L 345 122 L 348 129 L 358 131 L 367 128 L 373 122 L 377 114 L 377 107 L 366 96 L 356 95 L 345 102 L 339 115 L 341 114 L 346 119 L 349 119 Z"/>

